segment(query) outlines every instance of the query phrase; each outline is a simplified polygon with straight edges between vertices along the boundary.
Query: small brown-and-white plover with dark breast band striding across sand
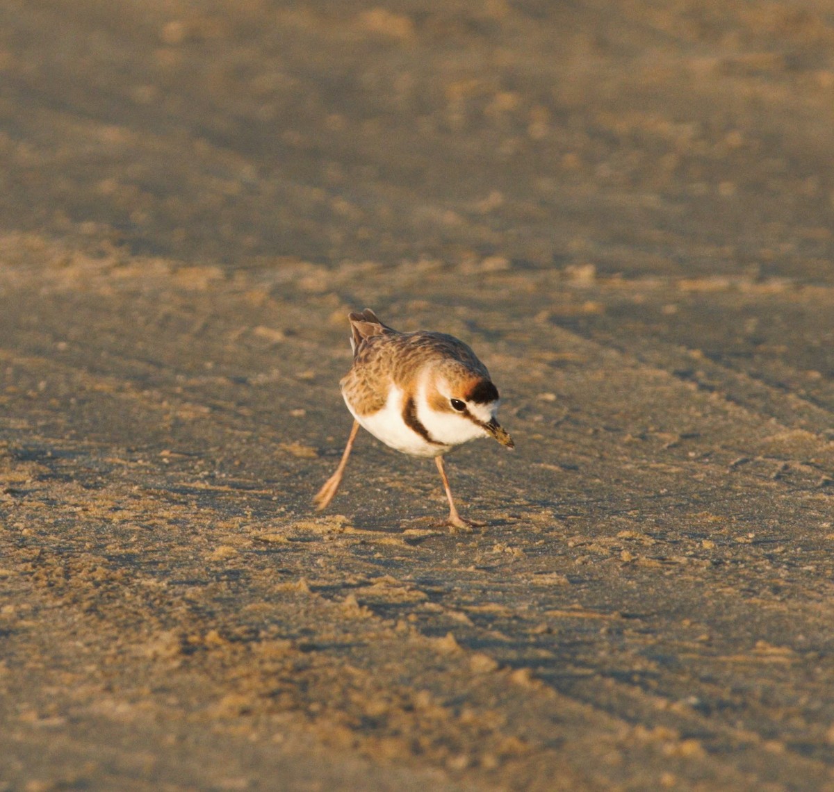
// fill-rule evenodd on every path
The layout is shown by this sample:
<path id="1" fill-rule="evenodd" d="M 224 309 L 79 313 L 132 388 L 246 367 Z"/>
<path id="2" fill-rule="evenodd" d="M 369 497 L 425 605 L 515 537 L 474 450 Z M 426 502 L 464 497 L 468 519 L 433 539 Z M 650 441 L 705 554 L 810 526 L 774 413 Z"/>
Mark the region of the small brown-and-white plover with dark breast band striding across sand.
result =
<path id="1" fill-rule="evenodd" d="M 403 454 L 434 457 L 449 499 L 449 523 L 456 528 L 478 524 L 455 509 L 443 456 L 479 437 L 493 437 L 508 449 L 515 445 L 495 420 L 498 389 L 485 365 L 454 336 L 399 333 L 370 308 L 348 318 L 354 363 L 339 387 L 354 425 L 339 467 L 314 498 L 317 508 L 333 500 L 362 426 Z"/>

